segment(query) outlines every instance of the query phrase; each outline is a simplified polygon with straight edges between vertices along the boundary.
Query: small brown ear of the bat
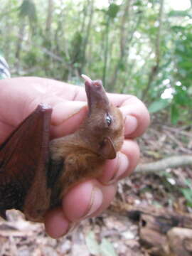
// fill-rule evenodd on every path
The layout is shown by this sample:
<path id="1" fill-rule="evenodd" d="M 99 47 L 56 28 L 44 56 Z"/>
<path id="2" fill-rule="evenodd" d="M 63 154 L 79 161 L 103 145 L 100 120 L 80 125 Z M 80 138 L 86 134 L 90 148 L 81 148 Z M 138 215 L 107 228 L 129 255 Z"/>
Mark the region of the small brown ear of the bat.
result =
<path id="1" fill-rule="evenodd" d="M 100 154 L 104 159 L 114 159 L 116 157 L 116 151 L 114 149 L 114 144 L 110 137 L 105 137 L 101 146 Z"/>

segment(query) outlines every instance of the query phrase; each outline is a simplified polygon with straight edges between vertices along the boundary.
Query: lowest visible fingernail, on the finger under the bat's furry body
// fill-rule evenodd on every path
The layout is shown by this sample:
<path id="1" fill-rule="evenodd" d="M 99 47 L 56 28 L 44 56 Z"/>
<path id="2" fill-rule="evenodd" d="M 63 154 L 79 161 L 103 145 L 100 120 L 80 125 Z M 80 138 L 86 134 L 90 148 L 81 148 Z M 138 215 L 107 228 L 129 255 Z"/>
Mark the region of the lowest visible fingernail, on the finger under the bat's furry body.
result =
<path id="1" fill-rule="evenodd" d="M 102 191 L 100 188 L 97 188 L 96 186 L 92 188 L 91 197 L 90 197 L 90 204 L 87 208 L 87 213 L 83 218 L 87 218 L 88 216 L 92 215 L 92 213 L 95 213 L 96 210 L 100 208 L 102 205 Z"/>

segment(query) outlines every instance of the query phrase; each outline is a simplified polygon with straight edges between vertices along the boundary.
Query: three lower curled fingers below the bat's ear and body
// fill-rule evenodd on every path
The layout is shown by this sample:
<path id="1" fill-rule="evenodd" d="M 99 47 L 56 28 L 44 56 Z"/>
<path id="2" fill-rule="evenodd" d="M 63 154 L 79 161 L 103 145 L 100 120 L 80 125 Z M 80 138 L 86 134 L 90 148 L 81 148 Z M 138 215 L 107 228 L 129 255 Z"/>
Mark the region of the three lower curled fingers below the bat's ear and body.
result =
<path id="1" fill-rule="evenodd" d="M 130 139 L 125 140 L 119 156 L 106 161 L 100 178 L 79 183 L 71 188 L 63 198 L 62 209 L 52 210 L 46 215 L 47 233 L 53 238 L 58 238 L 68 233 L 74 223 L 105 210 L 114 198 L 119 178 L 129 175 L 138 161 L 137 143 Z"/>

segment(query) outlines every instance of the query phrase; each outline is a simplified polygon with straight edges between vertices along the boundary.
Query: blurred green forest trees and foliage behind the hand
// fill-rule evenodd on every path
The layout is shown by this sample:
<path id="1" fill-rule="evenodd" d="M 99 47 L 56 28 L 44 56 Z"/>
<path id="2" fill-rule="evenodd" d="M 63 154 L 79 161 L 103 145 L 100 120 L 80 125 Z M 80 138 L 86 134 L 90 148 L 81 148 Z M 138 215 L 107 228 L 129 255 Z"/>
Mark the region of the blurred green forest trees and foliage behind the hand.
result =
<path id="1" fill-rule="evenodd" d="M 80 85 L 102 79 L 131 93 L 166 121 L 189 124 L 191 1 L 1 0 L 0 50 L 11 75 Z"/>

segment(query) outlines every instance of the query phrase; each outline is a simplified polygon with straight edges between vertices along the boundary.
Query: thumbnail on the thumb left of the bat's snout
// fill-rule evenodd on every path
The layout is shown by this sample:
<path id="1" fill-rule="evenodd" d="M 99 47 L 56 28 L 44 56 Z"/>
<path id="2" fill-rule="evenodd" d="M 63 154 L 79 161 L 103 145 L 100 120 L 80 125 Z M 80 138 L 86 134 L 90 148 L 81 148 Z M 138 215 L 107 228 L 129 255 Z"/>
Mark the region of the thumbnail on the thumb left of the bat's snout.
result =
<path id="1" fill-rule="evenodd" d="M 74 114 L 77 114 L 82 110 L 83 107 L 87 105 L 86 102 L 81 101 L 64 101 L 60 102 L 54 107 L 54 114 L 52 117 L 52 124 L 53 125 L 59 125 L 62 124 L 63 121 L 69 119 L 70 117 L 73 117 Z M 65 110 L 65 111 L 63 111 Z M 62 114 L 60 114 L 60 112 Z M 55 117 L 55 118 L 54 118 Z"/>

